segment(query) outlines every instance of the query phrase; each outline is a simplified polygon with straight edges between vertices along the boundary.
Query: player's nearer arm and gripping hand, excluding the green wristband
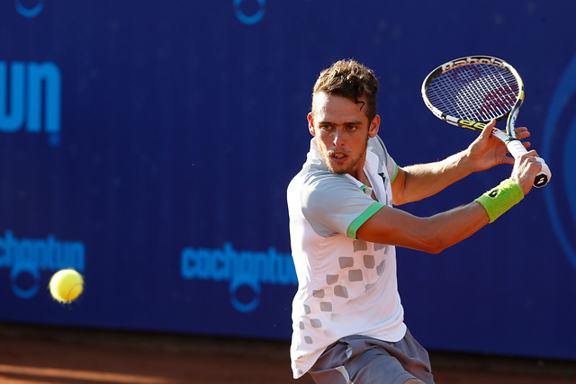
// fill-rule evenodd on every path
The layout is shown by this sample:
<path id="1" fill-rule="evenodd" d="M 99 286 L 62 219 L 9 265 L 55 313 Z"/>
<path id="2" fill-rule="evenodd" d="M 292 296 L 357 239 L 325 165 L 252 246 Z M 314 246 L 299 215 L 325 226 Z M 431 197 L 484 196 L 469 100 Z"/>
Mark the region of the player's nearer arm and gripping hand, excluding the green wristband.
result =
<path id="1" fill-rule="evenodd" d="M 541 169 L 535 156 L 536 151 L 530 151 L 518 158 L 510 176 L 524 195 Z M 383 207 L 356 230 L 356 238 L 437 254 L 472 236 L 489 222 L 487 211 L 475 201 L 428 218 Z"/>

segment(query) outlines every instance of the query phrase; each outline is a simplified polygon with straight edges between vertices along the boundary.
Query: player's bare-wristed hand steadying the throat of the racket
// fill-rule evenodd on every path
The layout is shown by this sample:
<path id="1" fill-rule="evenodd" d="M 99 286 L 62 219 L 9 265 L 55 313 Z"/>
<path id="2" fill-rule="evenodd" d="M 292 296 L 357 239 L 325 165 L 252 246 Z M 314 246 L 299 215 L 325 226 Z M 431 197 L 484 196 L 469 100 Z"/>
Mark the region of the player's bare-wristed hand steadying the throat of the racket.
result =
<path id="1" fill-rule="evenodd" d="M 495 120 L 484 127 L 478 138 L 468 147 L 469 158 L 472 161 L 472 170 L 483 171 L 499 164 L 514 164 L 514 158 L 509 155 L 508 148 L 498 138 L 495 138 L 491 131 L 496 124 Z M 530 136 L 526 127 L 515 129 L 518 139 L 522 140 Z M 524 147 L 530 147 L 529 142 L 522 143 Z"/>

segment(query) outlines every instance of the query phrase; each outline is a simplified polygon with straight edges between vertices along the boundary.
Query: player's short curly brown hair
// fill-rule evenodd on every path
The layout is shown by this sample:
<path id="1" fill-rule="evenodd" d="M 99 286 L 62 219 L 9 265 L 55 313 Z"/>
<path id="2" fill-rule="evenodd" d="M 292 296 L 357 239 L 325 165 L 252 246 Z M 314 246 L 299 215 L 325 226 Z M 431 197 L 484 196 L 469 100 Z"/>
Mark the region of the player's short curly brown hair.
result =
<path id="1" fill-rule="evenodd" d="M 376 94 L 378 79 L 372 69 L 365 67 L 354 59 L 339 60 L 331 67 L 320 72 L 312 92 L 312 112 L 314 111 L 314 94 L 336 94 L 346 97 L 354 103 L 362 103 L 368 121 L 376 116 Z M 366 103 L 358 100 L 364 96 Z M 365 104 L 365 105 L 364 105 Z"/>

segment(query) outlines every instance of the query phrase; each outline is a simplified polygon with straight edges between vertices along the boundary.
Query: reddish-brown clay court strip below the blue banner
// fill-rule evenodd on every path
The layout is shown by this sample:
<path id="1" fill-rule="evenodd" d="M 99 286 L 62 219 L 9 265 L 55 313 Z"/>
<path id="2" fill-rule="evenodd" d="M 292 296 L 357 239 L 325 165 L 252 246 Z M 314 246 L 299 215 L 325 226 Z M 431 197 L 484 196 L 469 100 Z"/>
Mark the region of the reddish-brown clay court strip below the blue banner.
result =
<path id="1" fill-rule="evenodd" d="M 576 362 L 430 353 L 437 384 L 576 383 Z M 270 383 L 293 380 L 288 344 L 0 325 L 0 383 Z"/>

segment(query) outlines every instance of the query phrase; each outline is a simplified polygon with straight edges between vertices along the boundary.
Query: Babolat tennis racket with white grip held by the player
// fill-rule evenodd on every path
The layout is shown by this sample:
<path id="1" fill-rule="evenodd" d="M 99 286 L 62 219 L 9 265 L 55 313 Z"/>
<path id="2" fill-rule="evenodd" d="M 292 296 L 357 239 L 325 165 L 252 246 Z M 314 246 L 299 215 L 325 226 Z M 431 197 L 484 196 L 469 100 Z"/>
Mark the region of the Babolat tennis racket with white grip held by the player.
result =
<path id="1" fill-rule="evenodd" d="M 438 118 L 458 127 L 482 130 L 492 119 L 507 119 L 506 133 L 492 129 L 512 156 L 518 158 L 527 149 L 516 137 L 514 128 L 524 102 L 524 84 L 514 67 L 500 58 L 469 56 L 448 61 L 424 79 L 422 98 Z M 542 171 L 534 186 L 540 188 L 552 174 L 544 159 L 536 157 Z"/>

